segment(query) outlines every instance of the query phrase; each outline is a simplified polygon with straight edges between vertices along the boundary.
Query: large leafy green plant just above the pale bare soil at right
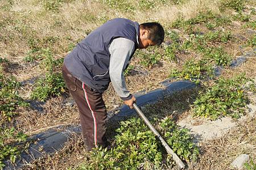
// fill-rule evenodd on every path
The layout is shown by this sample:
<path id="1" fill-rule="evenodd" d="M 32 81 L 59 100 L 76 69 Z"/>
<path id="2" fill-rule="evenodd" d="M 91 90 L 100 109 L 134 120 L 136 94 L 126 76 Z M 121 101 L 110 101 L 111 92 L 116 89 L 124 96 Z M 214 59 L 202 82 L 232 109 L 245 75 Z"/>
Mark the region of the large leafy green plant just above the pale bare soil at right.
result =
<path id="1" fill-rule="evenodd" d="M 192 106 L 193 116 L 208 117 L 210 120 L 226 115 L 240 117 L 245 113 L 246 104 L 249 101 L 246 90 L 249 90 L 250 86 L 246 83 L 253 82 L 244 75 L 233 79 L 216 80 L 207 91 L 199 93 L 199 97 Z"/>

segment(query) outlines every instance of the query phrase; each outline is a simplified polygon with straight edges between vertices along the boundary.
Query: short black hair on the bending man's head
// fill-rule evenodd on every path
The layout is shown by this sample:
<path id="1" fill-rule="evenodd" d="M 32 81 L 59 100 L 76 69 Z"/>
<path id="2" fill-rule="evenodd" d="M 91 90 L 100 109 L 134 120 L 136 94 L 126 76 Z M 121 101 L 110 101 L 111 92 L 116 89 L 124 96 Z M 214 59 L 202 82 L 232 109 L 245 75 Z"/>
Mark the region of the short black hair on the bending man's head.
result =
<path id="1" fill-rule="evenodd" d="M 143 23 L 139 25 L 140 28 L 147 29 L 149 32 L 148 39 L 156 43 L 156 45 L 162 44 L 164 40 L 164 29 L 159 23 Z"/>

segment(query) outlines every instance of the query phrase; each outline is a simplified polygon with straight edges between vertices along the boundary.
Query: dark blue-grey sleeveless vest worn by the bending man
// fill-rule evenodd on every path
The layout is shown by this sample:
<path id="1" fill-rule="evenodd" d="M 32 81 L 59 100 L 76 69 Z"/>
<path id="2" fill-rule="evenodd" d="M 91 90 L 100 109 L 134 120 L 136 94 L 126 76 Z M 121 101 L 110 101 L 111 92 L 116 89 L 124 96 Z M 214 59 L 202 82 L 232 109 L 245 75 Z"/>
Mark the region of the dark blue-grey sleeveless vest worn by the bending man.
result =
<path id="1" fill-rule="evenodd" d="M 123 37 L 134 42 L 135 52 L 138 48 L 138 36 L 139 24 L 137 22 L 123 18 L 109 20 L 79 42 L 65 57 L 64 63 L 76 78 L 94 90 L 104 92 L 110 83 L 109 45 L 114 39 Z M 132 56 L 133 54 L 130 57 Z"/>

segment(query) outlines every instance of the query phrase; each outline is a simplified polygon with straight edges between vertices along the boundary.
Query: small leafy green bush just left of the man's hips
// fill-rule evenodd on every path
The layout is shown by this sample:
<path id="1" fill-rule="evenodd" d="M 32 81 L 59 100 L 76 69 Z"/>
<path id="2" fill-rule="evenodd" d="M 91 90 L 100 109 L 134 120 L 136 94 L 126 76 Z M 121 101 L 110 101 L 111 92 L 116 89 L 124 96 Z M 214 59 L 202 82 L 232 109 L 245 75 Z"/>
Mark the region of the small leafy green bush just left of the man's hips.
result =
<path id="1" fill-rule="evenodd" d="M 31 99 L 46 101 L 49 96 L 60 96 L 65 92 L 65 82 L 60 73 L 46 73 L 46 78 L 40 78 L 35 83 Z"/>

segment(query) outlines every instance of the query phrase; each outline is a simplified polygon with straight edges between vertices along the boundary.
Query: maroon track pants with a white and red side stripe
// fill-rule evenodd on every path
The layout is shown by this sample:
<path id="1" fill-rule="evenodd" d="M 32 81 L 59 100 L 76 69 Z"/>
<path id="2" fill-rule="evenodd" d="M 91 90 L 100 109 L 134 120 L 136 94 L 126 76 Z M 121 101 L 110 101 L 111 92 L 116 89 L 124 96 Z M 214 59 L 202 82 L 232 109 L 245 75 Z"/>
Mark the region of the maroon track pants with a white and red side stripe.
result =
<path id="1" fill-rule="evenodd" d="M 62 74 L 79 109 L 82 137 L 84 137 L 86 149 L 90 151 L 93 147 L 106 147 L 106 107 L 102 94 L 75 78 L 64 64 Z"/>

